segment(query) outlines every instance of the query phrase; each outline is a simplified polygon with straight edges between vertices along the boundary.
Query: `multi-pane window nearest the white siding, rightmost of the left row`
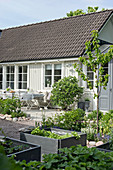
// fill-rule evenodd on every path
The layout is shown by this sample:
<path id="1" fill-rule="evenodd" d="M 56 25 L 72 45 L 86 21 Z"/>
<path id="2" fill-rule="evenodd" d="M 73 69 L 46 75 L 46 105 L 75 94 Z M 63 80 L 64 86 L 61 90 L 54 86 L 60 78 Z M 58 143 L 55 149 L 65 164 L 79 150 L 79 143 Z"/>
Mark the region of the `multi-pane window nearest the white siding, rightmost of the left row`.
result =
<path id="1" fill-rule="evenodd" d="M 18 66 L 18 89 L 27 89 L 27 66 Z"/>

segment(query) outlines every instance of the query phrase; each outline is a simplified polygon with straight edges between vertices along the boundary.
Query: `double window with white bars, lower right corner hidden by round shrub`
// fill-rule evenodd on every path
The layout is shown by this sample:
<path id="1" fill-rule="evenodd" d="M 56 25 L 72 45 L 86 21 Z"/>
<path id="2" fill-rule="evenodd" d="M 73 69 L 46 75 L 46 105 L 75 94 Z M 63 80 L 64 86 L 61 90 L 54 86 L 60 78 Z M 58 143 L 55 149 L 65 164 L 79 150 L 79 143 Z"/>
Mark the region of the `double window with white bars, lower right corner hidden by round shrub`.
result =
<path id="1" fill-rule="evenodd" d="M 61 79 L 61 64 L 46 64 L 45 87 L 51 87 L 59 79 Z"/>

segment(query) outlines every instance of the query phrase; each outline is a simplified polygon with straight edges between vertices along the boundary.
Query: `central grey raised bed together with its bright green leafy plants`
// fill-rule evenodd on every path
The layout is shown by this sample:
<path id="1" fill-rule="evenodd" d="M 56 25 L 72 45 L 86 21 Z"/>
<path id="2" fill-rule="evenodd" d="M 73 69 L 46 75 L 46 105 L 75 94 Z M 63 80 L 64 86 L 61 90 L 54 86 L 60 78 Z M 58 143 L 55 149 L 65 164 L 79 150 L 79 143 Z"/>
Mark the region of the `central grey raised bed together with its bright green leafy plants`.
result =
<path id="1" fill-rule="evenodd" d="M 72 135 L 70 135 L 71 133 Z M 78 136 L 80 137 L 78 138 Z M 45 128 L 40 130 L 40 128 L 37 127 L 33 131 L 20 132 L 20 140 L 41 145 L 42 154 L 48 154 L 59 153 L 58 150 L 60 148 L 73 145 L 81 144 L 85 146 L 86 134 L 58 128 Z"/>

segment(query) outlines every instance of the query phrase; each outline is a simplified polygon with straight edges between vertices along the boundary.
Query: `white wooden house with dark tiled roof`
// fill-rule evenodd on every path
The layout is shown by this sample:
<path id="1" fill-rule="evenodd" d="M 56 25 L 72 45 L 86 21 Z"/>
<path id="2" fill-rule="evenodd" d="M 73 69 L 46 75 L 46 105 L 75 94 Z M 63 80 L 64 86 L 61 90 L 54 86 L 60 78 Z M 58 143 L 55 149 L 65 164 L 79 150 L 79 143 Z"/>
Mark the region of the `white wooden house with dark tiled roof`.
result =
<path id="1" fill-rule="evenodd" d="M 98 30 L 101 50 L 106 52 L 113 44 L 113 10 L 0 30 L 0 90 L 10 86 L 16 91 L 51 91 L 55 81 L 72 75 L 85 87 L 94 110 L 94 73 L 82 66 L 92 82 L 90 91 L 73 68 L 92 30 Z M 113 109 L 113 61 L 105 70 L 111 76 L 107 90 L 102 90 L 101 110 Z"/>

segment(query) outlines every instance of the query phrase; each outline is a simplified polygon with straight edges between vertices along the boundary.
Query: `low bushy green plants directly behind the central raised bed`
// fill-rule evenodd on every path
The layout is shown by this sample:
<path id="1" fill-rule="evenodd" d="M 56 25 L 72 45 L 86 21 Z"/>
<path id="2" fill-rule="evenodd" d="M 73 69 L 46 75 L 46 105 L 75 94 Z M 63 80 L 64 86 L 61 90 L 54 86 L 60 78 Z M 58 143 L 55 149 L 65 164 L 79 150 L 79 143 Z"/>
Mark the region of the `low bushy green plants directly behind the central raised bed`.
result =
<path id="1" fill-rule="evenodd" d="M 60 114 L 56 114 L 54 118 L 47 118 L 42 121 L 42 126 L 45 127 L 60 127 L 66 130 L 80 131 L 85 126 L 84 122 L 85 112 L 82 109 L 76 109 Z"/>

